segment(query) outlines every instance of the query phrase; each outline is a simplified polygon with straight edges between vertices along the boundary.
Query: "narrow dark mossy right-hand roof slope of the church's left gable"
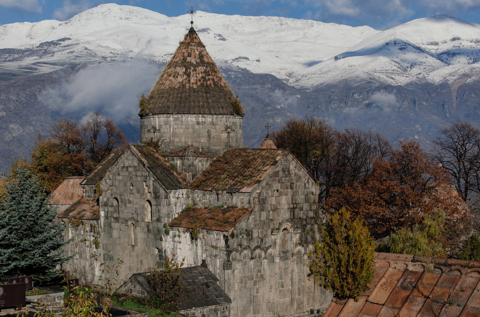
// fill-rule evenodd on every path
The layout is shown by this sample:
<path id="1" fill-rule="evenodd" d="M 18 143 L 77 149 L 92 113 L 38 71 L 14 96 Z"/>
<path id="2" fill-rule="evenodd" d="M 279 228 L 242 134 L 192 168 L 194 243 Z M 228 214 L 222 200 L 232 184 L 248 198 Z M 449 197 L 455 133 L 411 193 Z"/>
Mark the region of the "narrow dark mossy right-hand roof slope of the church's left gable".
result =
<path id="1" fill-rule="evenodd" d="M 130 149 L 140 158 L 167 190 L 185 188 L 185 181 L 171 168 L 170 163 L 153 148 L 145 145 L 130 145 Z"/>

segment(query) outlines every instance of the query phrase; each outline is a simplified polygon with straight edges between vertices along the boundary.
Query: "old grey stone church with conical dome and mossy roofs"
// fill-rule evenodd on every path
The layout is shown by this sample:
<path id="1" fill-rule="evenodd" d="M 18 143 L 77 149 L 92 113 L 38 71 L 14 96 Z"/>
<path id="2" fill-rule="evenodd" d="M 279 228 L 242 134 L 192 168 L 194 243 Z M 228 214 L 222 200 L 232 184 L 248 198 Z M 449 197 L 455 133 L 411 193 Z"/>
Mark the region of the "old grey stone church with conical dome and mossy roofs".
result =
<path id="1" fill-rule="evenodd" d="M 320 189 L 269 136 L 243 148 L 243 114 L 190 28 L 140 103 L 142 144 L 117 149 L 53 193 L 71 239 L 65 255 L 74 255 L 63 268 L 99 282 L 100 264 L 120 259 L 117 287 L 145 296 L 145 272 L 176 255 L 187 282 L 202 288 L 180 307 L 187 316 L 325 309 L 332 294 L 307 276 Z"/>

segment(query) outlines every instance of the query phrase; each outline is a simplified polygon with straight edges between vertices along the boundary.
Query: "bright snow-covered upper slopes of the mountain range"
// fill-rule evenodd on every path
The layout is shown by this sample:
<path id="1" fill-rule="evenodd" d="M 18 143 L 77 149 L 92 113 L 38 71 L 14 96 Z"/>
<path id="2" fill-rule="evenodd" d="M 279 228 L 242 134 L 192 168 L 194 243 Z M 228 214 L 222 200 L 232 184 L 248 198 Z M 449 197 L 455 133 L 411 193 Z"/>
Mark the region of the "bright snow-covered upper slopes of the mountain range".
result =
<path id="1" fill-rule="evenodd" d="M 0 26 L 0 71 L 48 72 L 79 61 L 168 61 L 190 15 L 103 4 L 60 22 Z M 283 17 L 198 12 L 194 27 L 217 63 L 297 88 L 338 80 L 404 85 L 479 77 L 480 26 L 434 16 L 379 31 Z M 14 48 L 14 50 L 12 50 Z"/>

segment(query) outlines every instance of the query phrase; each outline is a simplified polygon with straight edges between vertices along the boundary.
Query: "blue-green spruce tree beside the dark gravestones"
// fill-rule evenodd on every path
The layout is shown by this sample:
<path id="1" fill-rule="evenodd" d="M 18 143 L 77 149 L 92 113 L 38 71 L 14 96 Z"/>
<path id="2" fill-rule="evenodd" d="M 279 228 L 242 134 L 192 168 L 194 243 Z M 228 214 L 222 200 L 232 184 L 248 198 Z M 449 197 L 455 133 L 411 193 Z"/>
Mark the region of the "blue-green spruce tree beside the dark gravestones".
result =
<path id="1" fill-rule="evenodd" d="M 38 282 L 56 277 L 62 257 L 65 227 L 39 179 L 25 167 L 4 177 L 0 197 L 0 280 L 33 275 Z"/>

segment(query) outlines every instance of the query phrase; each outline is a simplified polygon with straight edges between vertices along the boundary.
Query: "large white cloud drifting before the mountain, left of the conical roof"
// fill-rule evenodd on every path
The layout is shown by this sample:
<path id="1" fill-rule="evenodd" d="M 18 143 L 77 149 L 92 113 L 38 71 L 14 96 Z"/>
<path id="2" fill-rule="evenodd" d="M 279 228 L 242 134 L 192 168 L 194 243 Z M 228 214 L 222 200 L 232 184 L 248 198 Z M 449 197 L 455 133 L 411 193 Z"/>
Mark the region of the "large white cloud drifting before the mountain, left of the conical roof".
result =
<path id="1" fill-rule="evenodd" d="M 138 100 L 159 76 L 144 61 L 88 65 L 67 81 L 45 89 L 40 100 L 61 112 L 98 111 L 117 122 L 137 118 Z"/>

